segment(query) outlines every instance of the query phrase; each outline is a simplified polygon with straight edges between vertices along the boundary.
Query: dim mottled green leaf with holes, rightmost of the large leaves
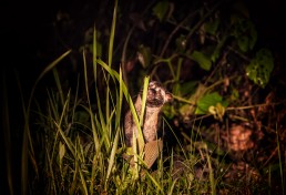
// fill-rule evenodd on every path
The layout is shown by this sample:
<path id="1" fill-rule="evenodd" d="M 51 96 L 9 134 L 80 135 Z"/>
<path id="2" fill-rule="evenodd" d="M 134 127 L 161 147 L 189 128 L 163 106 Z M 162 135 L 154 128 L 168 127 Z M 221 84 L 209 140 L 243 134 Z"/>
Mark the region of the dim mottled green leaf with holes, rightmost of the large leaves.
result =
<path id="1" fill-rule="evenodd" d="M 251 63 L 246 66 L 246 75 L 255 84 L 264 88 L 270 78 L 274 68 L 272 52 L 267 49 L 259 50 Z"/>

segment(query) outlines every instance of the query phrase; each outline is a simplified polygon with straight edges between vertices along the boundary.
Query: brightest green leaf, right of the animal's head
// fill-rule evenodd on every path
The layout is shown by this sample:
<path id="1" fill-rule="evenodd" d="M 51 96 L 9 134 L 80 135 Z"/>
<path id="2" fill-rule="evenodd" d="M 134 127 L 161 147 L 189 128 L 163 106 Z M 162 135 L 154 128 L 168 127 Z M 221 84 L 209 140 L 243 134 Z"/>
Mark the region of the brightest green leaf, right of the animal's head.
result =
<path id="1" fill-rule="evenodd" d="M 216 106 L 217 103 L 223 106 L 227 106 L 227 102 L 223 101 L 223 98 L 217 93 L 208 93 L 197 101 L 197 107 L 195 114 L 207 114 L 210 106 Z"/>

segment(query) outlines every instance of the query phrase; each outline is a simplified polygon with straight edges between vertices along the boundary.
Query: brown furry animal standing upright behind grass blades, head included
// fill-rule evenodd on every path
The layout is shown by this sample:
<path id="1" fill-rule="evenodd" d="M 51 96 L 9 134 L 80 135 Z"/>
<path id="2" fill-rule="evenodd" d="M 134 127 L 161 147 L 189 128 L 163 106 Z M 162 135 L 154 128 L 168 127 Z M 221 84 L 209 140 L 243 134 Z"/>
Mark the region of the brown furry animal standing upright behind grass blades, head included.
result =
<path id="1" fill-rule="evenodd" d="M 152 81 L 149 83 L 145 114 L 144 114 L 144 121 L 142 125 L 142 132 L 145 141 L 144 161 L 147 164 L 147 167 L 151 167 L 151 165 L 154 163 L 154 161 L 159 155 L 157 146 L 160 147 L 160 151 L 162 151 L 163 142 L 162 142 L 162 138 L 159 136 L 159 132 L 161 131 L 160 112 L 163 105 L 172 101 L 172 99 L 173 99 L 172 94 L 167 92 L 166 89 L 161 83 L 156 81 Z M 141 109 L 142 109 L 142 91 L 136 96 L 134 106 L 137 115 L 140 116 Z M 133 143 L 133 134 L 136 137 L 139 135 L 139 130 L 133 120 L 133 115 L 131 111 L 129 111 L 125 115 L 124 131 L 125 131 L 126 145 L 131 147 Z"/>

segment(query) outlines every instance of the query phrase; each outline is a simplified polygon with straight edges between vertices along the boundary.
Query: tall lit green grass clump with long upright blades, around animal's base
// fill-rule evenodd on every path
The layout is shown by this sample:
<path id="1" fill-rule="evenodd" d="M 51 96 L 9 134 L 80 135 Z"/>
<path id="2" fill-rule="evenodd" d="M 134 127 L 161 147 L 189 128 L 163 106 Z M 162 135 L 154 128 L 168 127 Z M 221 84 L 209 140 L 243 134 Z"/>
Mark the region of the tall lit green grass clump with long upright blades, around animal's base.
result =
<path id="1" fill-rule="evenodd" d="M 157 172 L 146 171 L 145 176 L 140 174 L 143 168 L 142 153 L 136 153 L 137 147 L 144 144 L 141 125 L 144 120 L 144 112 L 136 114 L 132 98 L 123 81 L 121 69 L 112 69 L 113 43 L 116 24 L 116 2 L 113 13 L 112 30 L 109 44 L 108 63 L 98 59 L 96 51 L 96 28 L 94 27 L 93 39 L 93 62 L 85 59 L 85 52 L 82 53 L 84 69 L 84 84 L 86 102 L 79 96 L 76 90 L 63 90 L 60 75 L 57 71 L 57 64 L 64 59 L 71 51 L 65 52 L 54 62 L 47 66 L 40 74 L 33 88 L 29 105 L 24 109 L 25 129 L 22 147 L 22 193 L 28 192 L 28 157 L 34 162 L 35 177 L 33 183 L 42 184 L 47 194 L 178 194 L 178 193 L 198 193 L 202 188 L 216 194 L 216 182 L 213 174 L 210 156 L 207 156 L 210 183 L 198 185 L 194 179 L 192 172 L 192 155 L 184 153 L 185 164 L 190 172 L 182 177 L 173 177 L 173 152 L 171 156 L 160 155 L 157 160 Z M 93 69 L 93 80 L 95 88 L 93 91 L 89 88 L 88 76 L 89 66 Z M 31 138 L 31 120 L 29 113 L 30 105 L 37 84 L 52 70 L 57 90 L 47 91 L 47 105 L 38 106 L 38 136 L 35 142 Z M 105 92 L 101 93 L 98 85 L 98 71 L 103 71 L 105 81 Z M 146 89 L 149 76 L 144 80 L 143 105 L 145 109 Z M 95 100 L 91 100 L 90 93 L 95 94 Z M 133 114 L 135 124 L 140 130 L 139 145 L 133 144 L 135 148 L 135 168 L 131 170 L 130 164 L 125 162 L 122 154 L 125 152 L 122 104 L 126 101 Z M 94 109 L 95 107 L 95 109 Z M 166 123 L 166 121 L 165 121 Z M 135 143 L 135 142 L 134 142 Z M 40 147 L 35 150 L 35 147 Z M 38 151 L 38 153 L 35 152 Z M 142 151 L 142 150 L 141 150 Z M 29 155 L 28 155 L 29 154 Z M 137 154 L 137 155 L 136 155 Z M 190 157 L 190 158 L 188 158 Z M 164 162 L 171 161 L 170 167 L 164 167 Z M 211 187 L 210 187 L 211 186 Z M 30 191 L 34 186 L 30 184 Z M 37 188 L 37 187 L 35 187 Z M 211 188 L 211 189 L 210 189 Z"/>

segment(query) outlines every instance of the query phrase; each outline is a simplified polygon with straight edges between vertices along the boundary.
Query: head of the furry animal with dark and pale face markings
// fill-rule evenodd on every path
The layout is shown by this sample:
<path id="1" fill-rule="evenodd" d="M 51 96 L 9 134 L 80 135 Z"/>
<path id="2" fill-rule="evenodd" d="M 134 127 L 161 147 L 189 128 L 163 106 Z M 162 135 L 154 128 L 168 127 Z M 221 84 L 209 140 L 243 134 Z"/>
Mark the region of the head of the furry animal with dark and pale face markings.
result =
<path id="1" fill-rule="evenodd" d="M 142 95 L 142 91 L 141 91 Z M 146 106 L 161 107 L 173 100 L 172 94 L 157 81 L 151 81 L 147 88 Z"/>

